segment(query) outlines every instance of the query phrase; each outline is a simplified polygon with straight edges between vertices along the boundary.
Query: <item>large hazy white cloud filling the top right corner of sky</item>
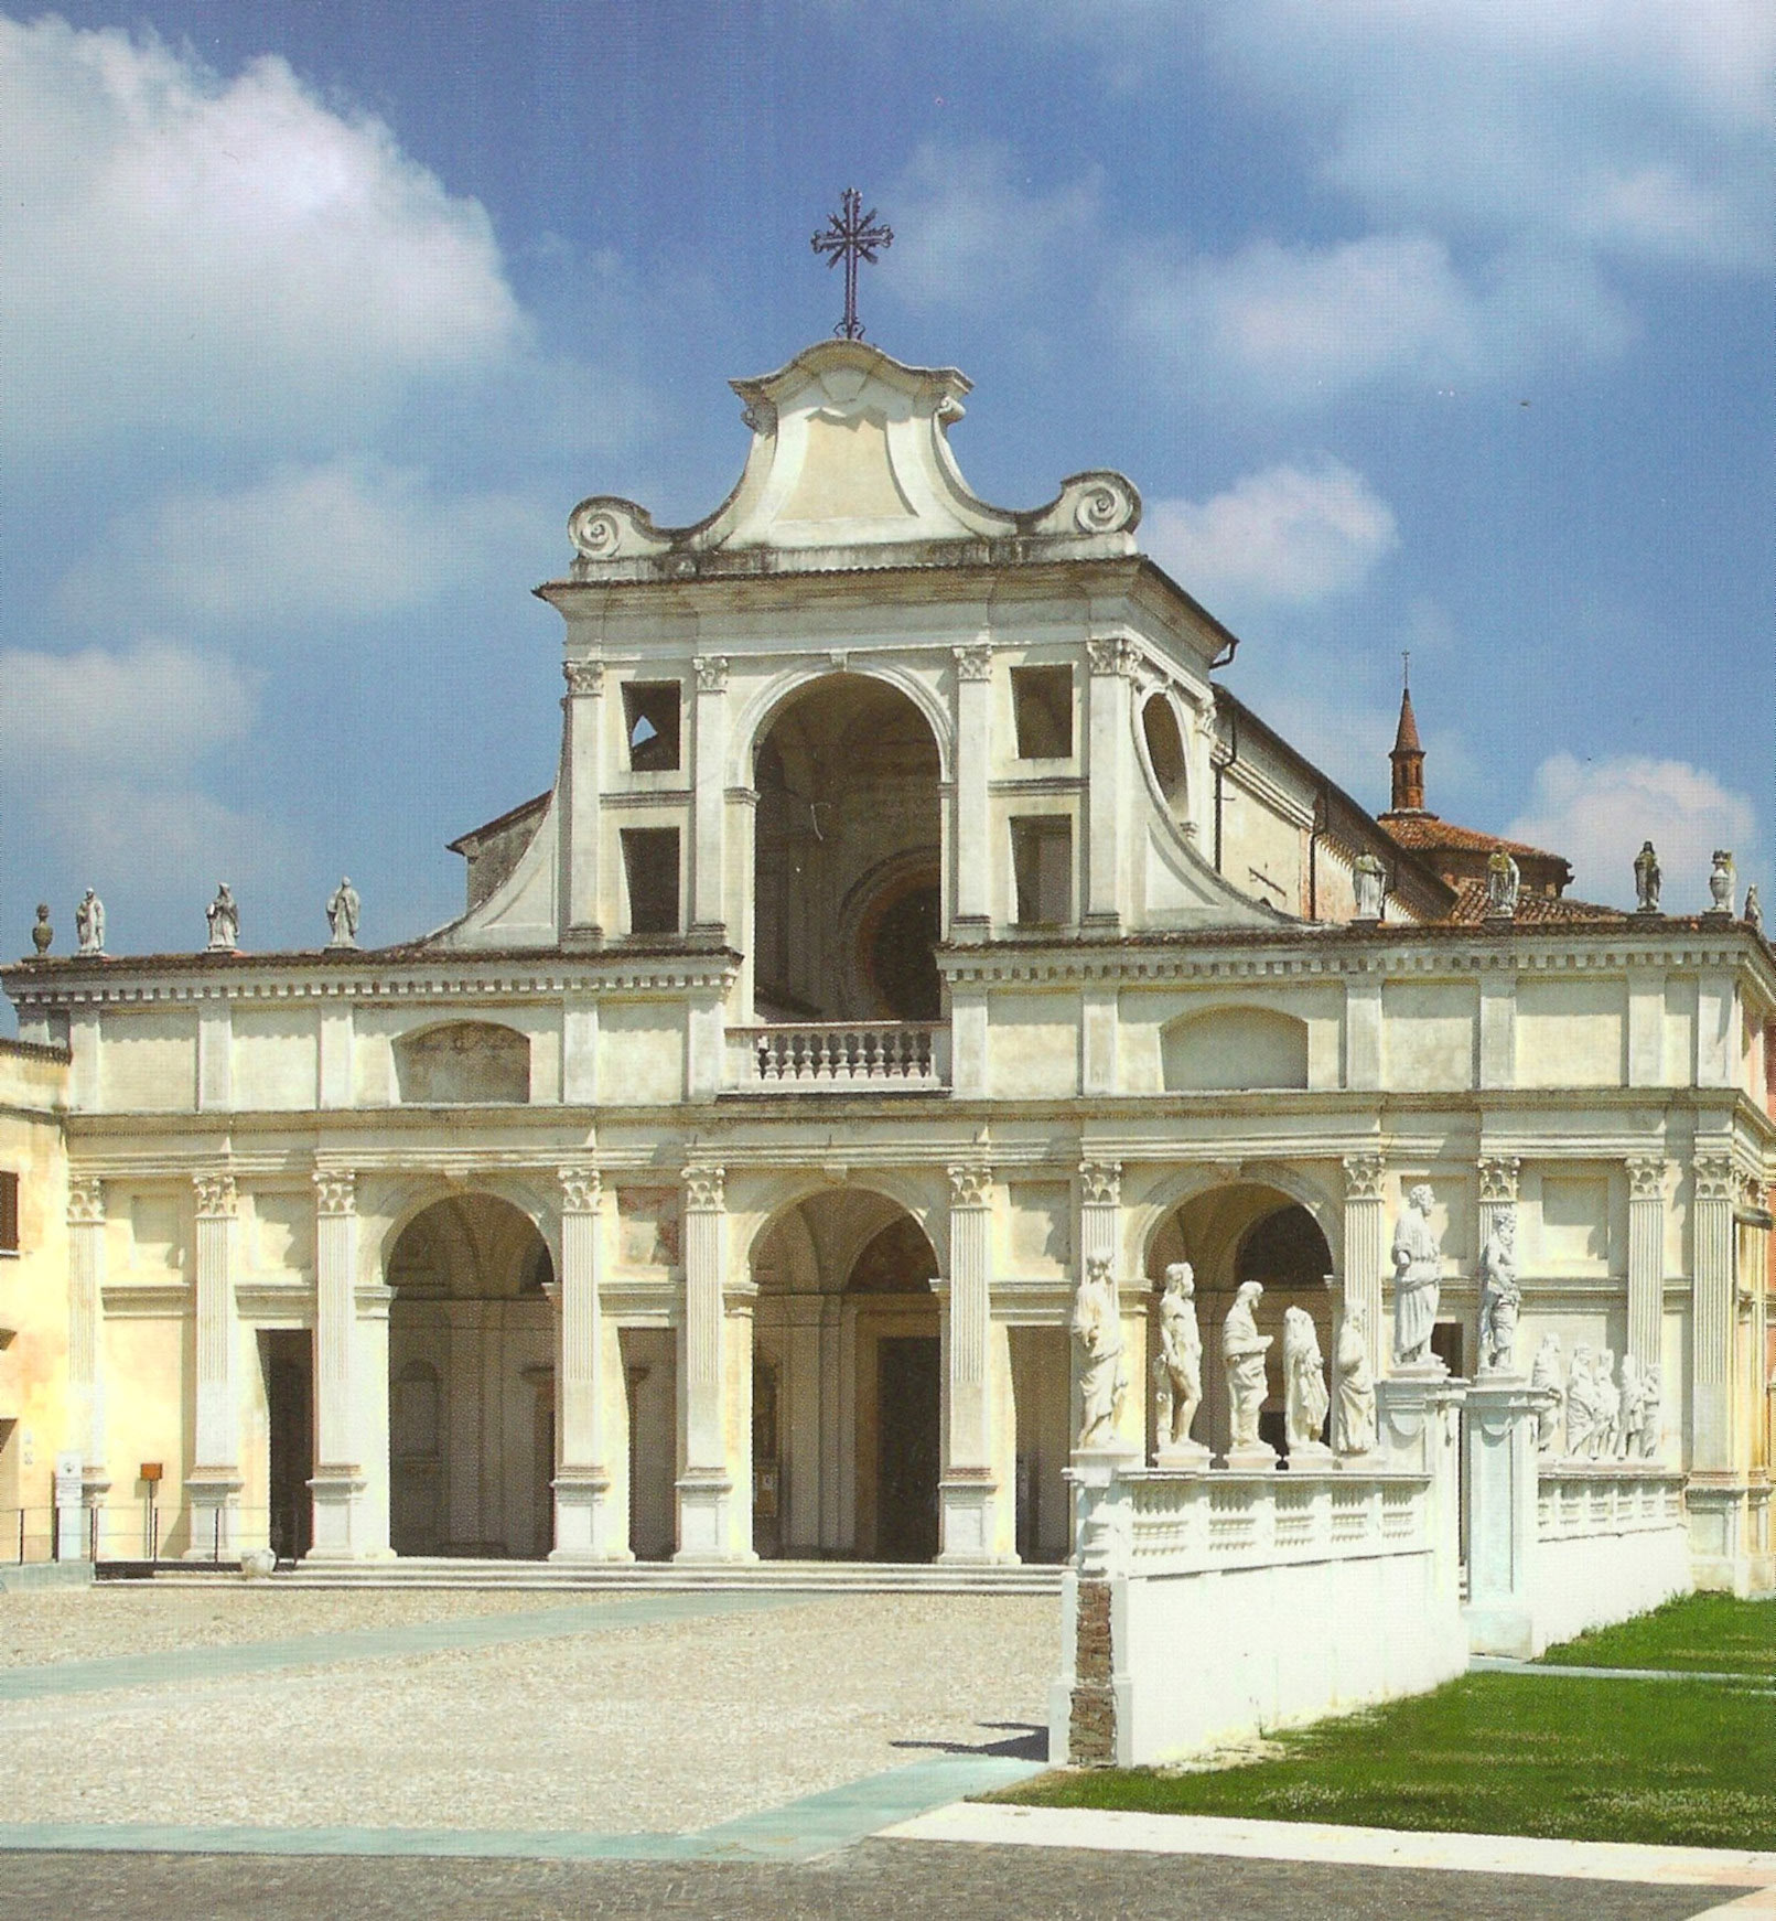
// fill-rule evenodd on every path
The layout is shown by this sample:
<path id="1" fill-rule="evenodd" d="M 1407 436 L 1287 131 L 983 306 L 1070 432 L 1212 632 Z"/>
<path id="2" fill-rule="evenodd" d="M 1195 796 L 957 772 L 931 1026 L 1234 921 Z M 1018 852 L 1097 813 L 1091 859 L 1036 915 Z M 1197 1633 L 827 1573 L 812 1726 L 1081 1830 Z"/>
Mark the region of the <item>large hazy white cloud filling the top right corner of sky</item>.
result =
<path id="1" fill-rule="evenodd" d="M 1306 106 L 1373 213 L 1634 259 L 1770 259 L 1766 0 L 1215 0 L 1219 63 Z"/>

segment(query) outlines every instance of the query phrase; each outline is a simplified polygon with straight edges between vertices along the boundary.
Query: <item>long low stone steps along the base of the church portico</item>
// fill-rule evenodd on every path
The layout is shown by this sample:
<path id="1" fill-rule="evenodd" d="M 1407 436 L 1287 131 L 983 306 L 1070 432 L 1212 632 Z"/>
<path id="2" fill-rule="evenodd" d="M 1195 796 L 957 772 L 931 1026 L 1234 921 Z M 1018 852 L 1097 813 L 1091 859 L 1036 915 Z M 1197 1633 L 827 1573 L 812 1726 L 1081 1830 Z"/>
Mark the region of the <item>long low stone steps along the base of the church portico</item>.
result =
<path id="1" fill-rule="evenodd" d="M 240 1579 L 234 1568 L 156 1569 L 157 1587 Z M 453 1560 L 403 1556 L 384 1562 L 300 1562 L 267 1585 L 288 1589 L 538 1589 L 582 1593 L 795 1593 L 795 1594 L 1058 1594 L 1054 1566 L 958 1566 L 897 1562 L 626 1562 L 586 1566 L 538 1560 Z"/>

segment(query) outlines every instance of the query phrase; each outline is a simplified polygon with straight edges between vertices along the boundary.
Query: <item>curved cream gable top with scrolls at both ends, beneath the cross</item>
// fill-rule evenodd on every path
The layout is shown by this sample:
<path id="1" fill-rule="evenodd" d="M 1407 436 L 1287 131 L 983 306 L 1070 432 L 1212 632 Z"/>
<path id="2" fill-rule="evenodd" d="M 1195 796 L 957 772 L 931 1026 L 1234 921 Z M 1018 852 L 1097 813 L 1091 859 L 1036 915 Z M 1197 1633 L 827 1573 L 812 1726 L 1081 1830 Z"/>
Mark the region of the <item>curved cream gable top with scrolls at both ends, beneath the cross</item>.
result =
<path id="1" fill-rule="evenodd" d="M 728 499 L 693 526 L 655 526 L 614 496 L 580 501 L 568 517 L 576 580 L 724 571 L 724 555 L 749 572 L 793 572 L 1135 553 L 1140 496 L 1117 473 L 1073 474 L 1021 513 L 972 492 L 948 444 L 970 392 L 954 367 L 824 340 L 732 384 L 753 446 Z"/>

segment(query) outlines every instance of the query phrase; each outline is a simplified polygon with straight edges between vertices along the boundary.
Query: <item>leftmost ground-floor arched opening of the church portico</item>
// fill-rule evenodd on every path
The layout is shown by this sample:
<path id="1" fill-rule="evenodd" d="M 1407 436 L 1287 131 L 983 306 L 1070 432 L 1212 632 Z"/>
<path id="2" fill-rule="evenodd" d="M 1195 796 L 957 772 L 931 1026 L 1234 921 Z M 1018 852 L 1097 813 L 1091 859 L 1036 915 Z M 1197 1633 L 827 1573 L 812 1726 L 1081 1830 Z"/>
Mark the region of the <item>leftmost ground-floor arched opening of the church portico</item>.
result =
<path id="1" fill-rule="evenodd" d="M 549 1247 L 495 1195 L 438 1201 L 388 1258 L 390 1546 L 522 1560 L 553 1544 Z"/>

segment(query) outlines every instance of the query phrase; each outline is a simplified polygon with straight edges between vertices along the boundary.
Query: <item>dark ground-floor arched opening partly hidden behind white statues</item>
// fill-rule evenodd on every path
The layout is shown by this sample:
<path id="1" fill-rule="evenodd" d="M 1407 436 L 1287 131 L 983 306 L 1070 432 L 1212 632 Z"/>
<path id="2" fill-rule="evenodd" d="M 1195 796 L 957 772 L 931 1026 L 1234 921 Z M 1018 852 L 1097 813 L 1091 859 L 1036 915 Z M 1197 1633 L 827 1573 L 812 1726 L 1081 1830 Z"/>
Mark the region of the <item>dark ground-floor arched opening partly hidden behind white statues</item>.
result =
<path id="1" fill-rule="evenodd" d="M 1265 1356 L 1265 1400 L 1260 1435 L 1279 1452 L 1283 1431 L 1283 1316 L 1306 1308 L 1319 1337 L 1319 1352 L 1331 1362 L 1334 1297 L 1327 1287 L 1332 1252 L 1319 1222 L 1290 1195 L 1256 1181 L 1213 1187 L 1192 1195 L 1160 1226 L 1148 1247 L 1148 1276 L 1158 1287 L 1173 1260 L 1188 1260 L 1196 1270 L 1196 1324 L 1202 1329 L 1202 1410 L 1194 1439 L 1217 1454 L 1227 1450 L 1229 1406 L 1227 1374 L 1221 1366 L 1221 1327 L 1233 1308 L 1235 1291 L 1258 1281 L 1258 1329 L 1271 1335 Z M 1150 1337 L 1158 1352 L 1158 1327 Z M 1152 1408 L 1148 1410 L 1152 1423 Z M 1152 1435 L 1148 1437 L 1152 1445 Z"/>

